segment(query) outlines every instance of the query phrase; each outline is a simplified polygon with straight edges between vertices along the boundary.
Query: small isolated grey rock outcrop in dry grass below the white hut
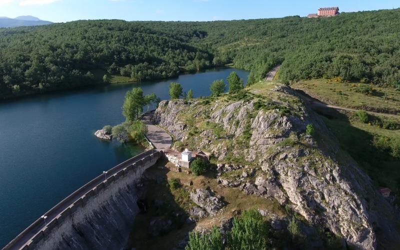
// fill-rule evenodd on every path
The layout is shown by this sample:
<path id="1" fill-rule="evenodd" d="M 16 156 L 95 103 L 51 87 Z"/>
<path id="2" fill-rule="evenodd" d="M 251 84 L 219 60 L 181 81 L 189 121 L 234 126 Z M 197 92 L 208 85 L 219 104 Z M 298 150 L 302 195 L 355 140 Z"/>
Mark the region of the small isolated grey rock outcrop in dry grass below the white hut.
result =
<path id="1" fill-rule="evenodd" d="M 190 193 L 190 199 L 211 215 L 215 215 L 219 209 L 225 206 L 220 198 L 212 196 L 211 192 L 206 189 L 193 190 Z"/>

